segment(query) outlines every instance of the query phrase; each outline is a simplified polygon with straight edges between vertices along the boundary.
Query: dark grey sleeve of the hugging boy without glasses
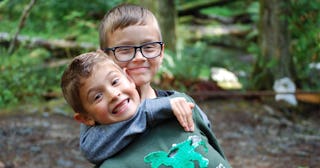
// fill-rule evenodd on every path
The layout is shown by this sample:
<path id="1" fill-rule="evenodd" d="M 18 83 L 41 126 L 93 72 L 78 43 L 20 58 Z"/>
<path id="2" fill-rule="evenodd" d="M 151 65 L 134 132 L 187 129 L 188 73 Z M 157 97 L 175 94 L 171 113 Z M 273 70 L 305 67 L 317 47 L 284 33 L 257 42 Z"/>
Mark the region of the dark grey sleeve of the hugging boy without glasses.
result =
<path id="1" fill-rule="evenodd" d="M 80 150 L 91 163 L 100 164 L 162 121 L 174 117 L 168 97 L 146 99 L 129 120 L 97 126 L 80 126 Z"/>

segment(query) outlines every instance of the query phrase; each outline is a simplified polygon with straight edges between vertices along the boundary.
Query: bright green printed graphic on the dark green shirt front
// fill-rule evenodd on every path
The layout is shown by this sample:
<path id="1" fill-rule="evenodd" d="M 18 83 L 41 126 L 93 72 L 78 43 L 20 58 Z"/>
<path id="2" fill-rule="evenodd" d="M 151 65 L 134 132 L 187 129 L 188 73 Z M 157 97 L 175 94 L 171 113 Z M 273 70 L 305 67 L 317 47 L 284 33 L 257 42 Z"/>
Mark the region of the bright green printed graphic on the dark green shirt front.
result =
<path id="1" fill-rule="evenodd" d="M 150 163 L 152 168 L 158 168 L 162 164 L 173 168 L 194 168 L 194 163 L 197 161 L 201 168 L 207 168 L 209 160 L 195 151 L 200 145 L 205 152 L 208 152 L 206 142 L 201 137 L 190 136 L 179 144 L 173 144 L 168 153 L 164 151 L 149 153 L 144 157 L 144 162 Z"/>

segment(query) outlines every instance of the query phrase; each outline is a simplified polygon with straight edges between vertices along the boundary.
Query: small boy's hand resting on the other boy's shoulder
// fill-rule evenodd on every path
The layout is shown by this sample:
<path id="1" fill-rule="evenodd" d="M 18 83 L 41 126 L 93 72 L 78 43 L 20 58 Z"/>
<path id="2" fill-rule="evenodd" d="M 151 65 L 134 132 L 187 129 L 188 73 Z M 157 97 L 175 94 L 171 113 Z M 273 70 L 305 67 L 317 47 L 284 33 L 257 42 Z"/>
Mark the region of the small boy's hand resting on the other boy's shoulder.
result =
<path id="1" fill-rule="evenodd" d="M 180 125 L 185 131 L 194 131 L 194 123 L 192 118 L 192 109 L 194 104 L 187 102 L 183 97 L 175 97 L 170 99 L 173 114 L 177 117 Z"/>

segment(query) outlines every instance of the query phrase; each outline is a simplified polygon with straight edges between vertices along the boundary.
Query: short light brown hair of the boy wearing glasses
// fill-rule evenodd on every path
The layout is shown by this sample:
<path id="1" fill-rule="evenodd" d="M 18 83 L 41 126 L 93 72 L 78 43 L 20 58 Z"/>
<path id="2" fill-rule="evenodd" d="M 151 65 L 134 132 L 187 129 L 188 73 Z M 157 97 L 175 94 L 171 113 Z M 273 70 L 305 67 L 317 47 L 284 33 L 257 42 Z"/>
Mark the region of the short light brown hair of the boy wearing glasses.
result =
<path id="1" fill-rule="evenodd" d="M 100 49 L 103 50 L 108 46 L 108 33 L 113 33 L 117 29 L 123 29 L 131 25 L 145 25 L 150 18 L 156 23 L 159 38 L 162 40 L 158 21 L 150 10 L 134 4 L 121 4 L 114 7 L 104 16 L 100 23 Z"/>

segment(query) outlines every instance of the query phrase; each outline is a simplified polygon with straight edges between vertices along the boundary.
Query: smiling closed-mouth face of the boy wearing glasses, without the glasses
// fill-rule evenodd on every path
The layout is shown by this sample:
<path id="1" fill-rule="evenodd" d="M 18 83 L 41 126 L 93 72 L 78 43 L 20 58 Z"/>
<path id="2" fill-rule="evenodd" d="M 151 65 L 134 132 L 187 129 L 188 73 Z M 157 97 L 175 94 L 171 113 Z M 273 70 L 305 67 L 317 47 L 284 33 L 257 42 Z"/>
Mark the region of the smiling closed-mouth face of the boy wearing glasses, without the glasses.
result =
<path id="1" fill-rule="evenodd" d="M 147 42 L 160 41 L 159 28 L 152 19 L 148 19 L 146 25 L 131 25 L 124 29 L 117 29 L 109 33 L 107 47 L 117 47 L 134 45 L 140 46 Z M 134 59 L 129 62 L 119 62 L 113 54 L 110 54 L 113 60 L 122 68 L 127 69 L 127 73 L 139 87 L 150 83 L 158 72 L 163 59 L 163 49 L 160 56 L 155 58 L 145 58 L 138 49 Z"/>

